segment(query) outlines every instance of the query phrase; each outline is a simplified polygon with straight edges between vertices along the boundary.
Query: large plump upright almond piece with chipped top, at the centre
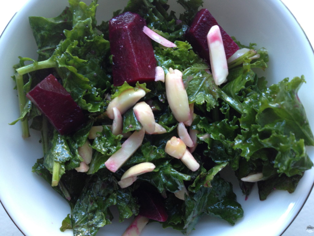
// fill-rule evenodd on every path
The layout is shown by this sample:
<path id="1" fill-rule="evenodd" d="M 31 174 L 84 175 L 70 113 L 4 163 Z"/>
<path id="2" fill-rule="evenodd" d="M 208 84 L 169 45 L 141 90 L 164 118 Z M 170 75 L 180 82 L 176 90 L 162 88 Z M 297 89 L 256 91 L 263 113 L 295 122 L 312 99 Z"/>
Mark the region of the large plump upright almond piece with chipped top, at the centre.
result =
<path id="1" fill-rule="evenodd" d="M 169 68 L 165 79 L 166 96 L 169 107 L 179 122 L 190 120 L 190 107 L 182 81 L 182 72 L 180 70 L 173 70 Z"/>

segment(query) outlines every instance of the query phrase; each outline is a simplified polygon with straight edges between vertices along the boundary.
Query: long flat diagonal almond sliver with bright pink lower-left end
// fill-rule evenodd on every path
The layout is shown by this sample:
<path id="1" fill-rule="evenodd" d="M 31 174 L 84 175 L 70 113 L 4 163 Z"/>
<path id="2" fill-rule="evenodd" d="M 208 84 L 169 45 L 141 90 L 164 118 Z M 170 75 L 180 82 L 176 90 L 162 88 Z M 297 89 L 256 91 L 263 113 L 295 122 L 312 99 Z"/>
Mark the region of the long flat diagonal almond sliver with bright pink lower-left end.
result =
<path id="1" fill-rule="evenodd" d="M 142 145 L 145 130 L 134 131 L 127 140 L 122 143 L 121 148 L 112 154 L 105 162 L 108 170 L 116 172 L 133 153 Z"/>

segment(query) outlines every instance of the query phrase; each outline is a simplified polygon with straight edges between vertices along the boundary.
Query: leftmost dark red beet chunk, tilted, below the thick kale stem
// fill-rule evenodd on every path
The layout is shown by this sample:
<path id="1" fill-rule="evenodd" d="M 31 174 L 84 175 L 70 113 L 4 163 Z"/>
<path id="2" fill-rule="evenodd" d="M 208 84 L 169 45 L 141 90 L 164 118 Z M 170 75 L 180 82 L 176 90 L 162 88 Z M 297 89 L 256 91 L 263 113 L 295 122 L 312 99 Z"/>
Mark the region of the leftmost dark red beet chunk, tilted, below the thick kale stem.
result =
<path id="1" fill-rule="evenodd" d="M 46 115 L 61 135 L 75 131 L 85 121 L 82 109 L 52 74 L 37 84 L 26 97 Z"/>

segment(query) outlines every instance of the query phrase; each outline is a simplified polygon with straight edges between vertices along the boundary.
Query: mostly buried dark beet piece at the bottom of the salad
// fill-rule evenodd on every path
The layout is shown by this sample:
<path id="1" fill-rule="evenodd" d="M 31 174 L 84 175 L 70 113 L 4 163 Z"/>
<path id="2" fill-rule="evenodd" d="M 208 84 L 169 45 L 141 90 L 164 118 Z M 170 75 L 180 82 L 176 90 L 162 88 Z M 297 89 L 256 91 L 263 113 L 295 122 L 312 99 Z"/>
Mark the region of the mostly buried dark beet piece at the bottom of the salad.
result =
<path id="1" fill-rule="evenodd" d="M 168 214 L 159 193 L 140 190 L 136 195 L 140 205 L 139 215 L 160 222 L 167 220 Z"/>

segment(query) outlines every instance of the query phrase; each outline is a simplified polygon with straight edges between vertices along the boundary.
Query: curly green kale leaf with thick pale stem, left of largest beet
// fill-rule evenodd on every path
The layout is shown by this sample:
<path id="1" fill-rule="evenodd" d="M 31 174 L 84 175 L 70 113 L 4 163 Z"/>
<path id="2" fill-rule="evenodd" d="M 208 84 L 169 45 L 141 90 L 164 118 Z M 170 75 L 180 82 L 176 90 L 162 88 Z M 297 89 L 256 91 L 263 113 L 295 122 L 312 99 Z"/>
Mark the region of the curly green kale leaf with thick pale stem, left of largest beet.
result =
<path id="1" fill-rule="evenodd" d="M 63 87 L 71 93 L 74 101 L 89 112 L 104 111 L 104 93 L 111 87 L 111 75 L 105 70 L 104 61 L 110 56 L 109 41 L 105 40 L 95 28 L 96 1 L 89 6 L 79 0 L 69 1 L 67 13 L 71 12 L 72 27 L 62 31 L 62 40 L 49 41 L 53 53 L 45 60 L 33 61 L 32 64 L 17 68 L 18 76 L 36 70 L 54 68 Z M 56 19 L 50 19 L 52 23 Z M 60 20 L 59 19 L 59 20 Z M 34 28 L 43 28 L 42 18 L 34 18 Z M 49 20 L 48 20 L 49 22 Z M 53 24 L 52 24 L 53 25 Z M 53 27 L 53 26 L 51 26 Z M 51 28 L 48 27 L 48 30 Z M 50 34 L 50 33 L 48 33 Z M 43 40 L 39 40 L 41 44 Z M 54 45 L 52 45 L 54 44 Z M 47 54 L 46 56 L 49 56 Z M 110 72 L 109 72 L 110 73 Z M 37 78 L 34 83 L 44 79 Z M 24 83 L 25 84 L 25 83 Z"/>

